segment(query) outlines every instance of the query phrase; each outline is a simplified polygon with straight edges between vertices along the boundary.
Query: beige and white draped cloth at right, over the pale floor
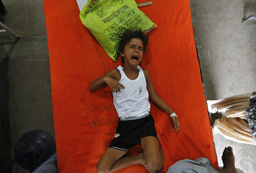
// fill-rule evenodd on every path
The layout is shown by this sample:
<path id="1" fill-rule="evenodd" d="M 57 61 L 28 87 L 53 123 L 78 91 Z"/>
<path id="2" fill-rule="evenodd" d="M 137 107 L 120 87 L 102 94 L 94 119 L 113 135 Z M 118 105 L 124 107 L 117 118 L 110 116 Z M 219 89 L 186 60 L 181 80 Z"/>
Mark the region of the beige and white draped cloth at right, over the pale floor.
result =
<path id="1" fill-rule="evenodd" d="M 256 145 L 252 138 L 246 109 L 250 104 L 251 93 L 235 95 L 221 100 L 207 101 L 210 113 L 221 113 L 223 116 L 216 119 L 212 127 L 212 133 L 220 133 L 226 139 Z"/>

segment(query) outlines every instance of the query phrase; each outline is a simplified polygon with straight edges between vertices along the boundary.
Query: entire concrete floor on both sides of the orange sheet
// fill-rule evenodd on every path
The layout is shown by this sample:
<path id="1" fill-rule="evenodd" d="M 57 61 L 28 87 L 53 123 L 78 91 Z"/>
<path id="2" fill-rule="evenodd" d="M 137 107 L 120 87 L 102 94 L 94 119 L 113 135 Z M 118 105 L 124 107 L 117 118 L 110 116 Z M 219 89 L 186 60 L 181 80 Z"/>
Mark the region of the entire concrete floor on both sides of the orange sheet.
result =
<path id="1" fill-rule="evenodd" d="M 0 110 L 6 112 L 0 121 L 0 165 L 13 157 L 13 147 L 24 133 L 41 129 L 55 136 L 43 3 L 2 2 L 8 12 L 6 26 L 21 37 L 13 42 L 11 35 L 0 33 L 0 74 L 8 84 L 2 86 L 2 95 L 9 105 Z M 256 0 L 190 0 L 190 6 L 207 99 L 252 93 L 256 86 L 256 21 L 241 21 L 256 14 Z M 214 141 L 220 166 L 224 147 L 232 146 L 236 166 L 246 173 L 256 172 L 255 145 L 233 142 L 219 134 Z M 18 164 L 12 170 L 29 172 Z"/>

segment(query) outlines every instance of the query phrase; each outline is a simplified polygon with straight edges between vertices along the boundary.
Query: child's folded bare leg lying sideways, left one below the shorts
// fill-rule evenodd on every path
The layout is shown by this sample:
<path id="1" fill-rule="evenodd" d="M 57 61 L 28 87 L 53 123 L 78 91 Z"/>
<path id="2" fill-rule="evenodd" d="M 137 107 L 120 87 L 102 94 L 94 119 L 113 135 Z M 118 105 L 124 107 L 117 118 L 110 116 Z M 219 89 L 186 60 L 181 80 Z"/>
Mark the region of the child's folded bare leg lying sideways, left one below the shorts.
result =
<path id="1" fill-rule="evenodd" d="M 133 164 L 144 163 L 143 153 L 121 158 L 125 153 L 126 152 L 124 151 L 109 147 L 99 160 L 97 164 L 97 171 L 99 173 L 109 173 Z"/>

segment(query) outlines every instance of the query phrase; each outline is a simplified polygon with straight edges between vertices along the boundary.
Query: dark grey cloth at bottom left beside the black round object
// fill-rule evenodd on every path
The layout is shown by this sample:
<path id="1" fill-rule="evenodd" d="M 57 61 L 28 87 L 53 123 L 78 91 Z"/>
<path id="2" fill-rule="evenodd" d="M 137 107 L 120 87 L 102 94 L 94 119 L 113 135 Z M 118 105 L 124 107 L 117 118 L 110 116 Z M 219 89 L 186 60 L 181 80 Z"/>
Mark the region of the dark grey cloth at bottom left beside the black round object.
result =
<path id="1" fill-rule="evenodd" d="M 37 169 L 33 171 L 33 173 L 57 173 L 57 155 L 56 153 L 52 155 L 45 163 L 41 164 Z"/>

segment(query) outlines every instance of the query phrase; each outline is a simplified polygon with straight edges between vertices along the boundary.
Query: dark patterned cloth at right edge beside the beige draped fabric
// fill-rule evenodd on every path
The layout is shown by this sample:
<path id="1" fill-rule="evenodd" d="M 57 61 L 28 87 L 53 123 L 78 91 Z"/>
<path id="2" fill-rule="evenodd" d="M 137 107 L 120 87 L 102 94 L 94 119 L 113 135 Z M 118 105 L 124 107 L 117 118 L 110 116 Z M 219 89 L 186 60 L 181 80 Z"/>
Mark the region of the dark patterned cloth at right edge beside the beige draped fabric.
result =
<path id="1" fill-rule="evenodd" d="M 256 91 L 251 94 L 250 104 L 246 110 L 251 136 L 256 140 Z"/>

